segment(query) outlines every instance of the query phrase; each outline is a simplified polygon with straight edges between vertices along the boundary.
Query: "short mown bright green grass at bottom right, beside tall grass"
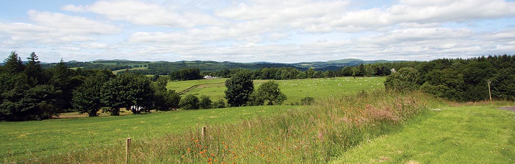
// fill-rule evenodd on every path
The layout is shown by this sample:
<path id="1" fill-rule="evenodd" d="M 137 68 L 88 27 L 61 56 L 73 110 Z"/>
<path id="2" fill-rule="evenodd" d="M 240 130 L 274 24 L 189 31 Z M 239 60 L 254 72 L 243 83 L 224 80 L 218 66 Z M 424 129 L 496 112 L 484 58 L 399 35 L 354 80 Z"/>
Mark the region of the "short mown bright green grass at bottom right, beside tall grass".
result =
<path id="1" fill-rule="evenodd" d="M 515 113 L 490 105 L 442 107 L 333 163 L 515 163 Z"/>

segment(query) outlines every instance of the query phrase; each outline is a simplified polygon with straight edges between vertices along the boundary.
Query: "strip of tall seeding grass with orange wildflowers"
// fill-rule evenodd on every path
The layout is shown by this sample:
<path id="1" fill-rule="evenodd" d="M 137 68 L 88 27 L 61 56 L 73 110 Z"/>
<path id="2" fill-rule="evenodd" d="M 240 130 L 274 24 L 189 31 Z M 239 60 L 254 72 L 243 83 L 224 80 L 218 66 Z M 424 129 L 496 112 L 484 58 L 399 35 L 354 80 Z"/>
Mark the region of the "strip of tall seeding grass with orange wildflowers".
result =
<path id="1" fill-rule="evenodd" d="M 326 163 L 358 143 L 398 129 L 438 103 L 421 93 L 360 92 L 318 101 L 311 107 L 241 123 L 209 125 L 207 136 L 133 140 L 132 163 Z M 122 163 L 124 143 L 40 159 L 45 163 Z"/>

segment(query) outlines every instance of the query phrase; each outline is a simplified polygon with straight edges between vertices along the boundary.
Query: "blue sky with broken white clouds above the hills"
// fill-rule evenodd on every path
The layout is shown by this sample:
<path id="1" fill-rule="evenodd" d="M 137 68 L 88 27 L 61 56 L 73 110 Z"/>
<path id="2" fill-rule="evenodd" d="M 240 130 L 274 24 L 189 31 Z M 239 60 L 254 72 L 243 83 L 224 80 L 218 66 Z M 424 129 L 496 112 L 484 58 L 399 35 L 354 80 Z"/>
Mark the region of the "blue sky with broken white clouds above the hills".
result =
<path id="1" fill-rule="evenodd" d="M 0 58 L 297 63 L 515 54 L 515 2 L 0 1 Z"/>

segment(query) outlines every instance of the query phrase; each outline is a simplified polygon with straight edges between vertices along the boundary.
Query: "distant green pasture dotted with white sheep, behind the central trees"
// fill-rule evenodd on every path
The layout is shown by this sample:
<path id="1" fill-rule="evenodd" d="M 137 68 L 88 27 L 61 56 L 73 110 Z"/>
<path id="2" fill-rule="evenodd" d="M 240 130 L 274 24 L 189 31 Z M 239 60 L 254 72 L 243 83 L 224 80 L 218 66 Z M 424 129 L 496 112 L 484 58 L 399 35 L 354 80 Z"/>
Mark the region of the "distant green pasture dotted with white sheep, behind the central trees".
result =
<path id="1" fill-rule="evenodd" d="M 216 80 L 191 80 L 169 82 L 168 89 L 181 92 L 192 86 L 186 94 L 205 95 L 212 100 L 224 98 L 226 79 Z M 357 93 L 359 90 L 373 90 L 384 88 L 384 77 L 375 78 L 322 78 L 322 79 L 300 79 L 300 80 L 277 80 L 281 92 L 288 98 L 283 104 L 299 102 L 302 98 L 314 97 L 315 99 L 337 97 Z M 258 88 L 260 83 L 268 80 L 254 80 L 254 88 Z"/>

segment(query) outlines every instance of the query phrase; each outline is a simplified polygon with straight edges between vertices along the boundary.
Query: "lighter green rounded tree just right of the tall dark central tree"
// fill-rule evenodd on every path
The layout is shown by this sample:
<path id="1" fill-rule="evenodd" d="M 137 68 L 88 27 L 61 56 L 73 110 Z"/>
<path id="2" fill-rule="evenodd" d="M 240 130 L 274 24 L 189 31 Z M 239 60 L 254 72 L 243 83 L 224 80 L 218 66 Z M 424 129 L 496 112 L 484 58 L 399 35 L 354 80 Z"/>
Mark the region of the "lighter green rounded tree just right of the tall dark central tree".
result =
<path id="1" fill-rule="evenodd" d="M 254 105 L 280 105 L 286 100 L 286 95 L 281 92 L 279 84 L 268 81 L 252 93 L 252 100 Z"/>

